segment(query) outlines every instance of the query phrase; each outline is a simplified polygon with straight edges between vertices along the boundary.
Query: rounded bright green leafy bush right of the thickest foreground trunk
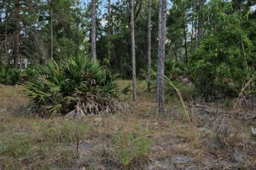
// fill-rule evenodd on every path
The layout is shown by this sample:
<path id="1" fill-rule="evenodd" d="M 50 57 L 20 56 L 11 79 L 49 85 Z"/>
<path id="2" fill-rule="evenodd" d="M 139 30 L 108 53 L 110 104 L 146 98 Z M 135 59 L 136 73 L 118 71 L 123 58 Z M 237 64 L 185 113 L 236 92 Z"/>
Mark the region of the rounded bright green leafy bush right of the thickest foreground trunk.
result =
<path id="1" fill-rule="evenodd" d="M 223 38 L 227 37 L 206 37 L 190 57 L 194 84 L 206 98 L 236 97 L 247 75 L 254 72 L 245 64 L 241 50 L 223 43 Z"/>

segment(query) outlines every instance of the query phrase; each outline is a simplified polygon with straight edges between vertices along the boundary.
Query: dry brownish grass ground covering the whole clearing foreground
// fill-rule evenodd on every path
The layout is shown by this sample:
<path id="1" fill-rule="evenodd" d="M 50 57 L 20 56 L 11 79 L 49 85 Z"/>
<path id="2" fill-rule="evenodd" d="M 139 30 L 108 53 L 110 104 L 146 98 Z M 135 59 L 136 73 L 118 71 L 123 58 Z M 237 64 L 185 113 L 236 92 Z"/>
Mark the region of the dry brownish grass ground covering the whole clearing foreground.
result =
<path id="1" fill-rule="evenodd" d="M 0 169 L 256 169 L 256 124 L 244 118 L 255 112 L 186 103 L 188 124 L 179 99 L 158 115 L 154 95 L 138 91 L 136 103 L 122 96 L 130 113 L 44 120 L 21 114 L 20 90 L 0 88 Z"/>

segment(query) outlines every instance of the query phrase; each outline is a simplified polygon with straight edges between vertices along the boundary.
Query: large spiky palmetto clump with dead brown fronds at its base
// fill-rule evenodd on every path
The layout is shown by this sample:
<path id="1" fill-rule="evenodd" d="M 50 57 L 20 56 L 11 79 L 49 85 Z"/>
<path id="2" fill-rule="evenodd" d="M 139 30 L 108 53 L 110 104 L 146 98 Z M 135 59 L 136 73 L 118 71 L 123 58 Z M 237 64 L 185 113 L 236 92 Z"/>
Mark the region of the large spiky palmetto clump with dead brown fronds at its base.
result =
<path id="1" fill-rule="evenodd" d="M 126 111 L 126 103 L 118 96 L 130 90 L 118 91 L 117 75 L 111 75 L 99 62 L 82 55 L 66 61 L 50 60 L 38 78 L 24 86 L 31 100 L 28 112 L 39 117 L 68 115 L 108 115 Z"/>

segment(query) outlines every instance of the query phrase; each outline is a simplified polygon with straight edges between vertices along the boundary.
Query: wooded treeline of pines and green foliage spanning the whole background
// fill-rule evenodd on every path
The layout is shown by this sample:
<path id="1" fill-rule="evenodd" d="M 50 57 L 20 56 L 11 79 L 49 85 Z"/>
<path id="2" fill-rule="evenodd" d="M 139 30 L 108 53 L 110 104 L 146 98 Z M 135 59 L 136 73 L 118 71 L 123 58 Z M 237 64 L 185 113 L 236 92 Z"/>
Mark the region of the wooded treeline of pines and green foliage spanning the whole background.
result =
<path id="1" fill-rule="evenodd" d="M 193 81 L 206 96 L 236 96 L 254 79 L 255 5 L 253 0 L 0 1 L 0 62 L 13 59 L 18 66 L 19 58 L 45 63 L 85 54 L 124 79 L 136 74 L 150 85 L 157 72 L 159 87 L 164 83 L 159 75 L 165 74 Z"/>

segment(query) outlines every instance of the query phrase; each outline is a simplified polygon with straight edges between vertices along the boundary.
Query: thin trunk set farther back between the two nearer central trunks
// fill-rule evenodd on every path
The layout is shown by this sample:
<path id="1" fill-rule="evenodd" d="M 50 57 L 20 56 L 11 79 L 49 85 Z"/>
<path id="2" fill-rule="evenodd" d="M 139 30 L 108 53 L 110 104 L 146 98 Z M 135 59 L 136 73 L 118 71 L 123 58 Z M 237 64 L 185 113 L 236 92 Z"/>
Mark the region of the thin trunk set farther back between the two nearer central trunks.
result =
<path id="1" fill-rule="evenodd" d="M 147 64 L 147 89 L 150 91 L 150 69 L 151 69 L 151 13 L 152 0 L 148 0 L 148 64 Z"/>

